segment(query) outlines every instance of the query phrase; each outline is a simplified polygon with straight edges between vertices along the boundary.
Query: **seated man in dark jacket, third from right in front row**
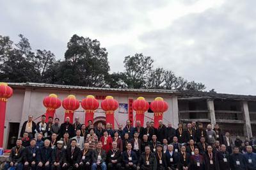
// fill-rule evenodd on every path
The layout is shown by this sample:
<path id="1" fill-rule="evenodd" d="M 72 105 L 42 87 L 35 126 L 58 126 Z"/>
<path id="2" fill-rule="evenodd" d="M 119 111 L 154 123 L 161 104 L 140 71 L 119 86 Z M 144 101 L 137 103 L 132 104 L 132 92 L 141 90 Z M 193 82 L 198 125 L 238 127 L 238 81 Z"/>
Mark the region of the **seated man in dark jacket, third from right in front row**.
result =
<path id="1" fill-rule="evenodd" d="M 216 169 L 227 170 L 230 169 L 229 153 L 226 151 L 225 144 L 221 144 L 220 151 L 216 153 Z"/>

